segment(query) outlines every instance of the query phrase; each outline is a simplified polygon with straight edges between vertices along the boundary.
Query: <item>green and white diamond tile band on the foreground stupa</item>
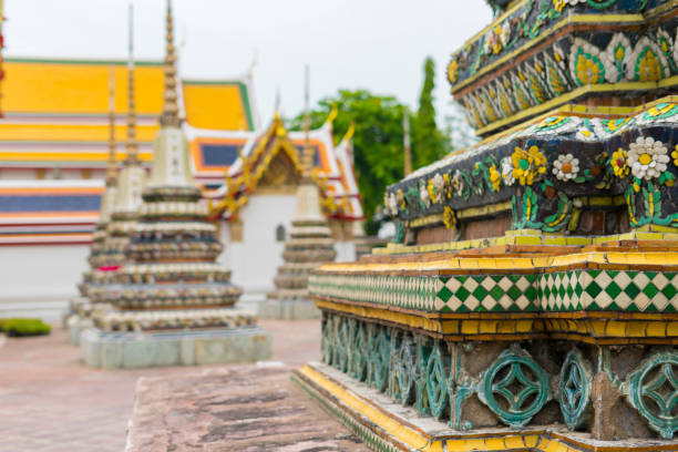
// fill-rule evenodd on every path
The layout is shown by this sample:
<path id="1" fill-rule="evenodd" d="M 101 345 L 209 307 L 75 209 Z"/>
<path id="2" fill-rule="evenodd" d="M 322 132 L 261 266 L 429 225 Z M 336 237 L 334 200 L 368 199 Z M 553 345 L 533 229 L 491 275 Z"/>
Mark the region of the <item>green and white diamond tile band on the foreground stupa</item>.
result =
<path id="1" fill-rule="evenodd" d="M 571 270 L 528 275 L 312 275 L 312 295 L 442 312 L 678 312 L 678 274 Z"/>

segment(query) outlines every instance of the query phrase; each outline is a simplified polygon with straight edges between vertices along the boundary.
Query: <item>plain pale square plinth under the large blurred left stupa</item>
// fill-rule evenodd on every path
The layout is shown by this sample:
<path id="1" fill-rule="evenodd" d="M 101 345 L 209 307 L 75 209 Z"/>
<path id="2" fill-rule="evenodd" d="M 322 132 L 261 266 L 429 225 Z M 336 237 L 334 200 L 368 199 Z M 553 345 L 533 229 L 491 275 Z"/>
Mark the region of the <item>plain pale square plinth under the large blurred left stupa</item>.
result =
<path id="1" fill-rule="evenodd" d="M 80 336 L 80 350 L 86 366 L 103 369 L 224 364 L 269 359 L 271 340 L 258 327 L 172 332 L 90 329 Z"/>

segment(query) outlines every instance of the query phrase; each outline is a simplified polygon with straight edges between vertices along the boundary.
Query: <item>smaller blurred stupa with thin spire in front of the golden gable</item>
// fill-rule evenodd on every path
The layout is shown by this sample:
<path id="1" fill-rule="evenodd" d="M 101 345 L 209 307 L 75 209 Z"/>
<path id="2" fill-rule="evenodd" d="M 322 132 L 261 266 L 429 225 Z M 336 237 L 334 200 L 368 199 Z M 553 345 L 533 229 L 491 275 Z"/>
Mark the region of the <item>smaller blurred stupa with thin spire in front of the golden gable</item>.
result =
<path id="1" fill-rule="evenodd" d="M 297 212 L 282 259 L 274 282 L 276 289 L 259 306 L 259 316 L 277 319 L 319 318 L 320 312 L 308 297 L 309 273 L 335 260 L 335 240 L 320 210 L 320 193 L 312 178 L 314 148 L 309 145 L 310 116 L 308 113 L 308 68 L 306 93 L 306 142 L 301 154 L 301 181 L 297 187 Z"/>

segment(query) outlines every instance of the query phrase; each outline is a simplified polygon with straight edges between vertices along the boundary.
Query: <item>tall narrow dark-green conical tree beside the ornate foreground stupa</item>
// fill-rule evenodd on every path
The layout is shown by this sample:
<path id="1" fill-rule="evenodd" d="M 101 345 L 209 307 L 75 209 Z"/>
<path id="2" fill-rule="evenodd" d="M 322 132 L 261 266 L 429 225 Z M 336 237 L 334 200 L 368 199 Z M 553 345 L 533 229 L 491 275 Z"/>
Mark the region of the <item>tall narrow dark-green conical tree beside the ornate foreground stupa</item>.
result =
<path id="1" fill-rule="evenodd" d="M 434 89 L 435 64 L 429 56 L 424 62 L 424 81 L 419 95 L 419 110 L 412 124 L 413 168 L 433 163 L 450 151 L 445 134 L 438 129 L 435 123 Z"/>

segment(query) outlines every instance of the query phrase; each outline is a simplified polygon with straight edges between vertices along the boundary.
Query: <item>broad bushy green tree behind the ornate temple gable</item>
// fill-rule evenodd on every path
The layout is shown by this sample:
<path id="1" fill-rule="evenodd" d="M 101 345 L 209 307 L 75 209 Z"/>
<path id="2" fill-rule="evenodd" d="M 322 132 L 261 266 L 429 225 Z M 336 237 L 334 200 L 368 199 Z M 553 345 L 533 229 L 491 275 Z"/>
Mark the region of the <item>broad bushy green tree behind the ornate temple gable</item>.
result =
<path id="1" fill-rule="evenodd" d="M 368 234 L 379 227 L 372 220 L 382 204 L 387 185 L 403 176 L 402 112 L 392 96 L 373 95 L 368 91 L 340 90 L 336 96 L 322 99 L 310 112 L 311 127 L 322 125 L 332 106 L 339 114 L 333 122 L 335 141 L 339 142 L 350 124 L 355 124 L 353 158 L 356 177 L 362 198 Z M 304 113 L 290 121 L 290 130 L 304 130 Z"/>

